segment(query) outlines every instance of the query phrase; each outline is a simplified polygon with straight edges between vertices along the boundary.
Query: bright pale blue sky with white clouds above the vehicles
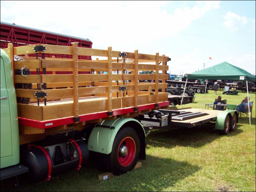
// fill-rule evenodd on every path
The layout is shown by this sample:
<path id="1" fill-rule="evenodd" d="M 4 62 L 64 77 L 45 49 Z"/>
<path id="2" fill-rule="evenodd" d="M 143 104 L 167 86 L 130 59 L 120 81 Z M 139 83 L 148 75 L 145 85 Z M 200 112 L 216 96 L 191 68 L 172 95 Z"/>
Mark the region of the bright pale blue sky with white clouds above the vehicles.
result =
<path id="1" fill-rule="evenodd" d="M 171 58 L 171 74 L 226 61 L 255 75 L 255 7 L 255 1 L 1 1 L 1 21 L 88 38 L 93 48 L 159 52 Z"/>

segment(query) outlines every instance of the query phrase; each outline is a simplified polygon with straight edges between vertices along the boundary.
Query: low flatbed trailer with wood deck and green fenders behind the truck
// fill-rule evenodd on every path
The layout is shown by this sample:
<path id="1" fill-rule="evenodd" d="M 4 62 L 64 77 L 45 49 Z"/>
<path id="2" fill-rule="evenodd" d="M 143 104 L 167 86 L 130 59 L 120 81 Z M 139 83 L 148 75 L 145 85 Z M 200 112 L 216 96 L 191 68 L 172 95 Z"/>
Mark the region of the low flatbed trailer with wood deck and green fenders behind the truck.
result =
<path id="1" fill-rule="evenodd" d="M 208 110 L 197 108 L 169 107 L 139 115 L 137 118 L 144 125 L 153 125 L 154 129 L 192 128 L 207 123 L 215 123 L 215 129 L 222 135 L 234 131 L 238 122 L 236 110 Z"/>

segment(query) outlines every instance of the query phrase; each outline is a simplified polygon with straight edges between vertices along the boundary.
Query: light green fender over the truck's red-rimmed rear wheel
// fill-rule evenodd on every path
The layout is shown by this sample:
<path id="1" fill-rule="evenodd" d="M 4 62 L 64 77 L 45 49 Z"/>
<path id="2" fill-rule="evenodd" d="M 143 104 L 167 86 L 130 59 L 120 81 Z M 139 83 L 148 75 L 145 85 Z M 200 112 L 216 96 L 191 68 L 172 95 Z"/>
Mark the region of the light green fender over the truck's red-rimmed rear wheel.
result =
<path id="1" fill-rule="evenodd" d="M 143 129 L 143 126 L 141 125 L 141 123 L 139 121 L 137 121 L 136 119 L 132 119 L 132 118 L 118 118 L 118 119 L 112 119 L 112 120 L 104 120 L 102 122 L 97 123 L 90 136 L 88 139 L 88 149 L 89 151 L 95 151 L 95 152 L 99 152 L 99 153 L 104 153 L 104 154 L 109 154 L 112 151 L 112 146 L 115 140 L 115 137 L 117 135 L 117 132 L 119 131 L 119 129 L 126 124 L 127 126 L 131 125 L 137 125 L 136 126 L 136 131 L 138 132 L 143 132 L 144 135 L 142 134 L 144 140 L 145 140 L 145 130 Z M 104 126 L 104 127 L 100 127 Z M 107 128 L 106 126 L 109 126 L 109 128 Z M 111 127 L 115 127 L 114 129 L 110 129 Z M 135 128 L 135 127 L 132 127 Z"/>

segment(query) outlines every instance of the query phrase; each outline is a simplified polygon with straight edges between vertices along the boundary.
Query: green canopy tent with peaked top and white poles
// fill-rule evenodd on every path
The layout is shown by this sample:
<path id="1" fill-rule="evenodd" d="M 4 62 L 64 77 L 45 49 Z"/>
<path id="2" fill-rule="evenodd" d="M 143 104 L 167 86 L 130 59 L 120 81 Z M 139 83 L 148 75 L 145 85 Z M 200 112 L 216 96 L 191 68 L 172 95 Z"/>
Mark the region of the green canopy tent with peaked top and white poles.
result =
<path id="1" fill-rule="evenodd" d="M 255 76 L 251 73 L 231 65 L 230 63 L 223 62 L 212 67 L 194 72 L 189 74 L 187 79 L 222 79 L 222 80 L 232 80 L 232 81 L 246 81 L 247 85 L 247 96 L 248 94 L 248 81 L 255 82 Z M 205 91 L 206 92 L 206 91 Z M 204 103 L 204 102 L 203 102 Z M 248 101 L 249 106 L 249 101 Z M 249 108 L 250 113 L 250 108 Z M 250 119 L 250 117 L 249 117 Z M 251 124 L 251 119 L 250 119 Z"/>

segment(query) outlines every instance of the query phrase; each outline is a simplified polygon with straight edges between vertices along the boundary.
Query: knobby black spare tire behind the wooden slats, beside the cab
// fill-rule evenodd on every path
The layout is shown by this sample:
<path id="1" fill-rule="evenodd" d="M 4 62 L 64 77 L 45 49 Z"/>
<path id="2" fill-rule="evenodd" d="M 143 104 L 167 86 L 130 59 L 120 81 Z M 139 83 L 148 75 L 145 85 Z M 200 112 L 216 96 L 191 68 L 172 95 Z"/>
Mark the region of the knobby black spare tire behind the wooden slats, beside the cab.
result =
<path id="1" fill-rule="evenodd" d="M 24 61 L 24 59 L 18 55 L 14 55 L 14 61 Z M 14 74 L 21 75 L 21 70 L 15 69 Z M 23 75 L 31 75 L 30 70 L 24 69 Z M 32 84 L 31 83 L 15 83 L 15 88 L 16 89 L 32 89 Z M 17 103 L 29 104 L 29 101 L 30 101 L 30 98 L 17 97 Z"/>

